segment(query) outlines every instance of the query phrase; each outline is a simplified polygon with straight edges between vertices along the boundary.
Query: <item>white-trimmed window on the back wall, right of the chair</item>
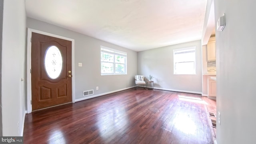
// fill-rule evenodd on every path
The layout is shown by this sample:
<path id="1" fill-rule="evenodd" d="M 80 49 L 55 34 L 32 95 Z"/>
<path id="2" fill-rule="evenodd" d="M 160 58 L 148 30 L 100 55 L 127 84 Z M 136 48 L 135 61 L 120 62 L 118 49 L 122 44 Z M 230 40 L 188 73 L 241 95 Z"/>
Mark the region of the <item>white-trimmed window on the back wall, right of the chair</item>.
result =
<path id="1" fill-rule="evenodd" d="M 196 74 L 196 47 L 173 50 L 174 74 Z"/>

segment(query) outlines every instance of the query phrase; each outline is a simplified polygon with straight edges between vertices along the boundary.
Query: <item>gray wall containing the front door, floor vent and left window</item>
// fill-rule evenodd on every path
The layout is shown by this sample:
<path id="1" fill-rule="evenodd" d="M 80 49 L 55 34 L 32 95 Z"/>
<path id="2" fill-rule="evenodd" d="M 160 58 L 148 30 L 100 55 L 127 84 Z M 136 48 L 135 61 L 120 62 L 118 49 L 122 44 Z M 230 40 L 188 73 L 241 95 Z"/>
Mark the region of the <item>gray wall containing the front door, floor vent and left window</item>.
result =
<path id="1" fill-rule="evenodd" d="M 99 95 L 134 86 L 134 75 L 137 73 L 137 52 L 32 18 L 27 18 L 27 27 L 75 40 L 76 100 L 84 98 L 82 94 L 85 90 L 94 90 L 94 95 Z M 127 75 L 100 75 L 101 45 L 127 52 Z M 82 67 L 78 67 L 78 62 L 82 62 Z M 96 90 L 96 86 L 99 90 Z"/>

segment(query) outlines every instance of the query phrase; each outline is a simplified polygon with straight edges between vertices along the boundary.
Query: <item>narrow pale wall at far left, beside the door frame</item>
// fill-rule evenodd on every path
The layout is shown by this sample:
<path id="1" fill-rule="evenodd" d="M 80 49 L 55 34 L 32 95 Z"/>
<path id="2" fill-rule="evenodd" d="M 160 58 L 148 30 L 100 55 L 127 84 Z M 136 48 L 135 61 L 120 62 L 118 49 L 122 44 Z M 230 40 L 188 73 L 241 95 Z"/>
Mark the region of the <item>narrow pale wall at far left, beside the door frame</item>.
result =
<path id="1" fill-rule="evenodd" d="M 4 0 L 2 39 L 3 136 L 22 135 L 25 116 L 25 0 Z M 19 125 L 18 125 L 19 122 Z M 19 127 L 19 129 L 18 129 Z"/>

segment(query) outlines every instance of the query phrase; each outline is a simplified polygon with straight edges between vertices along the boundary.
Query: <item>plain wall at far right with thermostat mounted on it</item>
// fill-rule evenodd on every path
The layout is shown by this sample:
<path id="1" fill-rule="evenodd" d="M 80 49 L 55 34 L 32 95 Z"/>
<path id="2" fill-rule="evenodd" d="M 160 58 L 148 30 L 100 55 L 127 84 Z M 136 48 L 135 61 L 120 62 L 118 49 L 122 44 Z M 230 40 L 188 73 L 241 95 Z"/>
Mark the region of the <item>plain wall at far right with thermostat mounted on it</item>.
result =
<path id="1" fill-rule="evenodd" d="M 226 27 L 216 32 L 217 142 L 254 144 L 256 1 L 214 0 L 214 5 L 215 22 L 226 14 Z"/>

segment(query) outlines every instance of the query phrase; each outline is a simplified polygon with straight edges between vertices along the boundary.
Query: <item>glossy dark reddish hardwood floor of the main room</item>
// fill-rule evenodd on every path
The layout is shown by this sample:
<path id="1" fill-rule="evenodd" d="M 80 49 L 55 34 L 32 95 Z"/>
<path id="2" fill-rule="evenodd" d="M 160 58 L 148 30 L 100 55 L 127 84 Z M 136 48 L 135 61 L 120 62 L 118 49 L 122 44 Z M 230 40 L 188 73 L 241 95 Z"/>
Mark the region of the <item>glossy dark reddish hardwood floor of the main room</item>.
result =
<path id="1" fill-rule="evenodd" d="M 212 144 L 202 96 L 134 88 L 26 114 L 24 144 Z"/>

